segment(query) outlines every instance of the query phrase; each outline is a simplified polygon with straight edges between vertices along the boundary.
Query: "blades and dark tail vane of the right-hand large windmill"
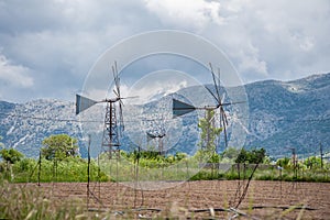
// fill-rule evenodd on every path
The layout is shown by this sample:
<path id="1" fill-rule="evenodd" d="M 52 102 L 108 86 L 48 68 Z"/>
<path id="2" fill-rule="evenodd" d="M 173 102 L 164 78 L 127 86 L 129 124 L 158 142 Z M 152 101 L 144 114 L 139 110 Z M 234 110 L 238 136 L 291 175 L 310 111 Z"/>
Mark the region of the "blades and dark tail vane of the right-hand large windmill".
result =
<path id="1" fill-rule="evenodd" d="M 184 101 L 173 99 L 173 117 L 174 118 L 182 117 L 182 116 L 187 114 L 187 113 L 189 113 L 191 111 L 195 111 L 195 110 L 206 110 L 207 111 L 206 116 L 208 116 L 208 113 L 210 111 L 219 110 L 220 128 L 223 129 L 224 144 L 226 144 L 226 147 L 227 147 L 228 146 L 228 138 L 227 138 L 228 118 L 227 118 L 227 114 L 226 114 L 226 111 L 224 111 L 223 107 L 234 105 L 234 103 L 242 103 L 243 101 L 227 102 L 227 103 L 223 102 L 223 98 L 222 99 L 220 98 L 220 68 L 218 68 L 218 77 L 216 77 L 216 74 L 213 72 L 213 67 L 212 67 L 211 63 L 209 65 L 210 65 L 210 72 L 211 72 L 211 75 L 212 75 L 212 80 L 213 80 L 213 86 L 215 86 L 216 92 L 213 92 L 208 87 L 206 87 L 206 88 L 211 94 L 211 96 L 216 99 L 217 105 L 216 106 L 195 107 L 195 106 L 186 103 Z M 210 124 L 213 123 L 215 116 L 212 118 L 208 118 Z"/>

